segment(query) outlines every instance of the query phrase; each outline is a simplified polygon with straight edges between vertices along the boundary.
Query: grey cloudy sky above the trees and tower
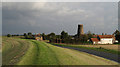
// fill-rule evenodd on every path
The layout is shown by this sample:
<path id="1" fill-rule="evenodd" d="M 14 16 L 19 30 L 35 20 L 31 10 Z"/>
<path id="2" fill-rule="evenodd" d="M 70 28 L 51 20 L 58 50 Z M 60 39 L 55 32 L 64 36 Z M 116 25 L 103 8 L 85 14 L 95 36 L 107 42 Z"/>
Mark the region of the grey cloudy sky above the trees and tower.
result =
<path id="1" fill-rule="evenodd" d="M 118 29 L 117 2 L 4 2 L 2 3 L 3 34 L 25 32 L 71 35 L 78 24 L 84 32 L 112 34 Z"/>

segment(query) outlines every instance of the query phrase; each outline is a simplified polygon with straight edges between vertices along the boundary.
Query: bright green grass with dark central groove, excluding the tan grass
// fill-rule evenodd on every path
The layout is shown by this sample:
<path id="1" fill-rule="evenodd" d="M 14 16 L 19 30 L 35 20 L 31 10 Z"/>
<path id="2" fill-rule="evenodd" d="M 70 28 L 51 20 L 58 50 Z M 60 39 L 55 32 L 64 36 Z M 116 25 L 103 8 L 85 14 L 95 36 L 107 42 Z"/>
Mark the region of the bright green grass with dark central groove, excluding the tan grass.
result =
<path id="1" fill-rule="evenodd" d="M 44 43 L 38 41 L 31 41 L 33 46 L 21 59 L 18 65 L 56 65 L 58 64 L 54 52 Z M 29 58 L 29 59 L 28 59 Z"/>

